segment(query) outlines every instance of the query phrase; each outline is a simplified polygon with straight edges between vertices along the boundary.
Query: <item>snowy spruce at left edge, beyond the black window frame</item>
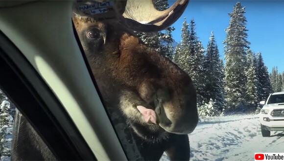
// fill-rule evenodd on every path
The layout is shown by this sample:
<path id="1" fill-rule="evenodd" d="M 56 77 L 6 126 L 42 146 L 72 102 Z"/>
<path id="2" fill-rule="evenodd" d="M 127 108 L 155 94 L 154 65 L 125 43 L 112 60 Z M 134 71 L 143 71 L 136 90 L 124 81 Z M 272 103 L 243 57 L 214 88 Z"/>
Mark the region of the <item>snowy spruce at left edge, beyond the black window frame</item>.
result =
<path id="1" fill-rule="evenodd" d="M 10 141 L 6 138 L 8 135 L 8 127 L 12 126 L 12 116 L 9 114 L 10 102 L 7 100 L 1 101 L 0 104 L 0 158 L 1 156 L 10 157 L 11 150 L 7 146 Z"/>

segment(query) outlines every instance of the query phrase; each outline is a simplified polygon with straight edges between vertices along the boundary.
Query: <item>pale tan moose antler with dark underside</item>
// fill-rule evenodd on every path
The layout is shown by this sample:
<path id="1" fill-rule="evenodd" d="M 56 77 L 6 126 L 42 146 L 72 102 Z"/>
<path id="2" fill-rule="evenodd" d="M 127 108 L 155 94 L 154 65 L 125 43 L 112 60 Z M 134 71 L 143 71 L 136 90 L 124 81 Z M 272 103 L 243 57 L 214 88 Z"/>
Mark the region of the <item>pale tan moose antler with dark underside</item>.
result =
<path id="1" fill-rule="evenodd" d="M 124 23 L 135 31 L 161 31 L 178 20 L 189 0 L 177 0 L 170 8 L 158 11 L 153 0 L 127 0 L 123 13 Z"/>

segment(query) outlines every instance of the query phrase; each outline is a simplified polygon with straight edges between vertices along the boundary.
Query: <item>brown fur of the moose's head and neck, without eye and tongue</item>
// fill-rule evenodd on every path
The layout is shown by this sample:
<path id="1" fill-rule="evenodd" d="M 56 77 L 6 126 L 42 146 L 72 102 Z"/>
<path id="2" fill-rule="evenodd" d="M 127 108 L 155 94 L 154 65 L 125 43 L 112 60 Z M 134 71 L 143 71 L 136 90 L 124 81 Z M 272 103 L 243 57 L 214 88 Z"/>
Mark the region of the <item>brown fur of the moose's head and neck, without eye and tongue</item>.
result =
<path id="1" fill-rule="evenodd" d="M 142 157 L 150 160 L 159 158 L 145 156 L 149 155 L 143 154 L 147 147 L 145 144 L 161 147 L 156 148 L 160 149 L 156 152 L 161 157 L 161 151 L 167 152 L 168 144 L 174 147 L 175 143 L 171 140 L 179 137 L 185 144 L 179 146 L 189 150 L 186 134 L 193 131 L 198 120 L 195 88 L 189 76 L 170 60 L 145 46 L 133 32 L 121 26 L 100 25 L 106 31 L 105 43 L 96 50 L 90 50 L 95 41 L 103 38 L 91 42 L 86 39 L 87 30 L 101 22 L 73 20 L 108 111 L 111 115 L 121 113 L 124 116 L 133 138 L 137 144 L 144 146 L 139 149 Z M 137 105 L 155 110 L 159 124 L 145 122 Z M 117 130 L 119 133 L 121 129 L 117 127 Z M 120 139 L 123 137 L 122 134 L 119 136 Z M 155 148 L 150 150 L 155 151 Z M 179 159 L 174 154 L 168 155 L 172 156 L 170 159 Z M 187 159 L 189 154 L 181 156 Z"/>

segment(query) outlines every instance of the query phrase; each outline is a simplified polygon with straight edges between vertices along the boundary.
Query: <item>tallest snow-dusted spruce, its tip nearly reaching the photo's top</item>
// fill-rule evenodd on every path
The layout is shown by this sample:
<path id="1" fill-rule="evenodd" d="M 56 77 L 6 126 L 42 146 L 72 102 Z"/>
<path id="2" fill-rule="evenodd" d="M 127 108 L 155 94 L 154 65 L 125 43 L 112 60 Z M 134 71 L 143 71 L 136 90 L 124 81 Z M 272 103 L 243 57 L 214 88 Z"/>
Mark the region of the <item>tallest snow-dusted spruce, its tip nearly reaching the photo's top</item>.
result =
<path id="1" fill-rule="evenodd" d="M 244 110 L 246 104 L 246 52 L 250 42 L 247 41 L 245 7 L 240 2 L 229 13 L 230 24 L 226 29 L 226 40 L 223 41 L 225 55 L 225 99 L 227 110 Z"/>

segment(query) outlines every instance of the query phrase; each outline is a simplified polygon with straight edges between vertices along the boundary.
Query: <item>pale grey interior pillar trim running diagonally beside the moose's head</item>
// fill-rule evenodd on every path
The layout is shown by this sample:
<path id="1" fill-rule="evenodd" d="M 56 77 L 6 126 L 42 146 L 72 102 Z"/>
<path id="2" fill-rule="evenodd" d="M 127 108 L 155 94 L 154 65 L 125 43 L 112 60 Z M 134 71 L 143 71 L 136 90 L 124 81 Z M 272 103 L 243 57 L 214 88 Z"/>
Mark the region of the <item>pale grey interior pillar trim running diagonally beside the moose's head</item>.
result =
<path id="1" fill-rule="evenodd" d="M 57 96 L 97 160 L 127 160 L 74 38 L 72 4 L 34 0 L 6 7 L 0 3 L 0 21 L 4 24 L 0 29 Z"/>

